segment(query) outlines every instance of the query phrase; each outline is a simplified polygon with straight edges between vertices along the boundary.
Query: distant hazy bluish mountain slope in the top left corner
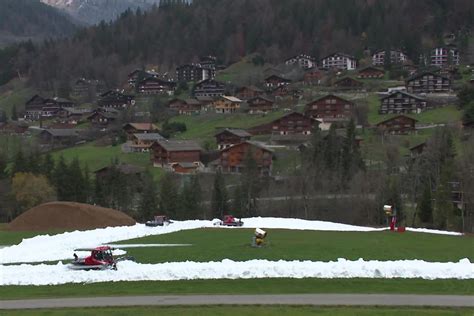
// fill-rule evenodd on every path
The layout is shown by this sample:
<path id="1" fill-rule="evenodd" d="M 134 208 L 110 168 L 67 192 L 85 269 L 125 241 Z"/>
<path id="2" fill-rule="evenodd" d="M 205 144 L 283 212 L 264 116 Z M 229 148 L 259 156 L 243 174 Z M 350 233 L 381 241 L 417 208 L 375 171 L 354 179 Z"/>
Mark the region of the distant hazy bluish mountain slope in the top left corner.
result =
<path id="1" fill-rule="evenodd" d="M 66 15 L 39 0 L 0 1 L 0 47 L 21 40 L 69 36 L 76 29 Z"/>

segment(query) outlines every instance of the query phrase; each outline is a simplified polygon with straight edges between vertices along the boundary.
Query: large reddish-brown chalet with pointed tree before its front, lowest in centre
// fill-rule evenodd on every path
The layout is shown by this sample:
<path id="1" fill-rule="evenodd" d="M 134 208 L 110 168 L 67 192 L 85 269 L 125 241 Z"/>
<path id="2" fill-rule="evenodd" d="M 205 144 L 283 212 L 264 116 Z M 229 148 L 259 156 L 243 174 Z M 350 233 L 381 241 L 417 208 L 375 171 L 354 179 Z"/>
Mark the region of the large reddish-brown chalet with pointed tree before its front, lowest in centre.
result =
<path id="1" fill-rule="evenodd" d="M 223 172 L 241 173 L 245 168 L 244 162 L 249 152 L 257 163 L 260 173 L 271 175 L 273 151 L 253 141 L 245 141 L 221 150 L 218 168 Z"/>

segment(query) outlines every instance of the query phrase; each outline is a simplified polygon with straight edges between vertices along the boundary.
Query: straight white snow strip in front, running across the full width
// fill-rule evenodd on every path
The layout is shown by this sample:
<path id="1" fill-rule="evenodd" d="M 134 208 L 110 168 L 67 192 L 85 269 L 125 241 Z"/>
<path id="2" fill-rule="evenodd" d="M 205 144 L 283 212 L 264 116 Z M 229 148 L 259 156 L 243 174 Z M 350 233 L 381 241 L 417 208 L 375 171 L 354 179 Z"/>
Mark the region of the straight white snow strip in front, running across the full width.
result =
<path id="1" fill-rule="evenodd" d="M 250 260 L 236 262 L 170 262 L 139 264 L 119 262 L 118 270 L 77 271 L 67 265 L 0 265 L 0 286 L 57 285 L 110 281 L 171 281 L 259 278 L 422 278 L 474 279 L 474 264 L 422 260 L 330 262 Z"/>

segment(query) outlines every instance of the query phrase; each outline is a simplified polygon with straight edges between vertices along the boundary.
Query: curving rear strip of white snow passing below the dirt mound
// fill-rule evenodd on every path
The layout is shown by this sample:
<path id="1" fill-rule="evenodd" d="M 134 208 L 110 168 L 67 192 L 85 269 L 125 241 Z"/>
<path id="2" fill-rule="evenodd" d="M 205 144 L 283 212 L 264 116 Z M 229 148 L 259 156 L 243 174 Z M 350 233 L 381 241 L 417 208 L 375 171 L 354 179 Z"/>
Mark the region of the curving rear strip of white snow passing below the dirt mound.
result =
<path id="1" fill-rule="evenodd" d="M 293 218 L 253 217 L 244 218 L 243 228 L 281 228 L 324 231 L 380 231 L 386 228 L 353 226 L 324 221 L 308 221 Z M 20 244 L 0 249 L 0 264 L 20 262 L 44 262 L 72 257 L 74 249 L 92 248 L 121 240 L 161 235 L 196 228 L 216 227 L 216 220 L 175 221 L 168 226 L 148 227 L 143 224 L 108 227 L 89 231 L 74 231 L 58 235 L 42 235 L 24 239 Z M 425 233 L 458 234 L 444 231 L 423 230 Z M 191 240 L 189 242 L 192 242 Z"/>

